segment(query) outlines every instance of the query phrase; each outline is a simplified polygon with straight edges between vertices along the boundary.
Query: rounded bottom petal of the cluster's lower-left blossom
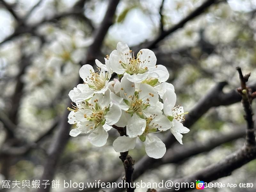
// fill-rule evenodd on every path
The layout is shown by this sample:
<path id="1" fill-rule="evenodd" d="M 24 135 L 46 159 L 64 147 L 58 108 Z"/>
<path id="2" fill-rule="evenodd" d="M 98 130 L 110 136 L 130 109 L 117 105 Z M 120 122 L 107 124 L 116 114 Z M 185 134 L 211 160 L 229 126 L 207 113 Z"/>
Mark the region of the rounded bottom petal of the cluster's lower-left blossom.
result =
<path id="1" fill-rule="evenodd" d="M 101 147 L 106 144 L 108 139 L 108 132 L 106 132 L 102 126 L 97 127 L 93 132 L 88 136 L 88 140 L 92 145 L 96 147 Z"/>

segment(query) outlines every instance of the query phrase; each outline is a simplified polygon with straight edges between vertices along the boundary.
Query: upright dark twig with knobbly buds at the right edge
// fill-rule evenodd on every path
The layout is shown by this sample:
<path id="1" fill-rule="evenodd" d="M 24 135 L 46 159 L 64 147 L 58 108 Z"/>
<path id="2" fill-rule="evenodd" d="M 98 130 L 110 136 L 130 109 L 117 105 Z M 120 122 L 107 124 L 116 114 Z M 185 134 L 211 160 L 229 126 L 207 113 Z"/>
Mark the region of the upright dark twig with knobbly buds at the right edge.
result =
<path id="1" fill-rule="evenodd" d="M 252 98 L 252 93 L 246 87 L 246 82 L 248 81 L 250 74 L 243 76 L 243 73 L 240 67 L 237 67 L 236 70 L 238 71 L 239 79 L 241 83 L 241 89 L 238 89 L 238 92 L 242 96 L 242 104 L 245 112 L 244 119 L 246 120 L 246 123 L 247 123 L 245 144 L 248 146 L 255 146 L 256 142 L 255 142 L 255 133 L 254 133 L 254 121 L 252 119 L 253 113 L 252 113 L 252 106 L 251 106 L 253 98 Z"/>

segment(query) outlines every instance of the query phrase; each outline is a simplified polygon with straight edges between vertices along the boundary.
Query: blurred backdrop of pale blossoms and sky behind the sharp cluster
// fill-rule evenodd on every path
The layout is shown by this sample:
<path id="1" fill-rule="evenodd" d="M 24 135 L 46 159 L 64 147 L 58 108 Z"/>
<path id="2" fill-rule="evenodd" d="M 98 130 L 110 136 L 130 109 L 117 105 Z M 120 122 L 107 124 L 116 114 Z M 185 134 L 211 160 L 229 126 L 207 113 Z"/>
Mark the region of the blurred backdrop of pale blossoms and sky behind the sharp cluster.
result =
<path id="1" fill-rule="evenodd" d="M 236 90 L 239 87 L 236 66 L 251 72 L 251 83 L 256 80 L 255 0 L 212 1 L 214 3 L 197 17 L 151 47 L 148 43 L 204 1 L 121 0 L 98 49 L 89 50 L 96 41 L 97 30 L 104 25 L 102 20 L 109 2 L 0 1 L 0 191 L 35 191 L 33 188 L 2 189 L 1 183 L 41 178 L 49 151 L 58 140 L 58 131 L 65 125 L 63 121 L 68 120 L 64 118 L 70 107 L 68 92 L 77 85 L 79 68 L 87 62 L 93 65 L 94 59 L 103 61 L 119 41 L 126 42 L 134 51 L 149 47 L 155 52 L 157 64 L 168 68 L 168 82 L 174 85 L 177 103 L 184 106 L 185 111 L 191 110 L 218 82 L 228 82 L 223 92 Z M 240 102 L 211 108 L 184 135 L 182 148 L 176 143 L 172 149 L 208 146 L 212 139 L 216 141 L 238 132 L 236 137 L 177 162 L 147 166 L 136 181 L 174 180 L 222 160 L 244 145 L 243 114 Z M 61 144 L 63 151 L 58 154 L 53 179 L 61 182 L 118 180 L 123 174 L 123 165 L 112 147 L 117 135 L 116 130 L 111 130 L 107 144 L 101 148 L 92 146 L 85 134 L 68 138 L 67 144 Z M 160 137 L 164 139 L 166 135 Z M 129 152 L 136 162 L 146 154 L 142 145 L 138 143 Z M 256 187 L 255 178 L 254 160 L 217 181 L 252 182 Z M 255 188 L 207 191 L 249 192 Z"/>

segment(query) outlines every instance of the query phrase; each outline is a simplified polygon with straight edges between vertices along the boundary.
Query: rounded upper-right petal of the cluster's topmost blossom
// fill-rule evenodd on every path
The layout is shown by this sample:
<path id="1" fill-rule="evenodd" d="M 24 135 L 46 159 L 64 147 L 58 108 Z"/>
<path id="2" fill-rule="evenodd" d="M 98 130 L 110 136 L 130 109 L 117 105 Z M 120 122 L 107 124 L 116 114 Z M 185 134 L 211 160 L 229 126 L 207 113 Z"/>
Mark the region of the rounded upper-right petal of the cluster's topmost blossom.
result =
<path id="1" fill-rule="evenodd" d="M 141 51 L 142 54 L 140 53 Z M 137 54 L 137 58 L 138 57 L 140 57 L 141 62 L 145 61 L 145 65 L 143 67 L 150 68 L 156 65 L 156 55 L 153 51 L 149 49 L 141 49 Z"/>

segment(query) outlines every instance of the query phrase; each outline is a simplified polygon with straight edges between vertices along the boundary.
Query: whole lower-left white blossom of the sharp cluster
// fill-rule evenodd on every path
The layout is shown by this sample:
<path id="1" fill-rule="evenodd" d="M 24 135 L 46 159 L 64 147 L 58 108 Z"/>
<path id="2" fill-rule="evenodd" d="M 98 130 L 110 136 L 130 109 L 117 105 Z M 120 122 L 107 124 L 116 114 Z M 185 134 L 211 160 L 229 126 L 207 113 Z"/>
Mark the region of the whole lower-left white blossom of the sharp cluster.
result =
<path id="1" fill-rule="evenodd" d="M 78 128 L 72 129 L 70 135 L 76 137 L 81 132 L 90 133 L 88 140 L 97 146 L 103 146 L 107 142 L 109 125 L 115 124 L 120 116 L 121 109 L 116 105 L 110 106 L 110 91 L 95 94 L 89 101 L 77 103 L 77 107 L 71 110 L 68 123 L 75 124 Z"/>

